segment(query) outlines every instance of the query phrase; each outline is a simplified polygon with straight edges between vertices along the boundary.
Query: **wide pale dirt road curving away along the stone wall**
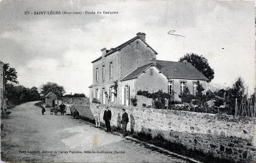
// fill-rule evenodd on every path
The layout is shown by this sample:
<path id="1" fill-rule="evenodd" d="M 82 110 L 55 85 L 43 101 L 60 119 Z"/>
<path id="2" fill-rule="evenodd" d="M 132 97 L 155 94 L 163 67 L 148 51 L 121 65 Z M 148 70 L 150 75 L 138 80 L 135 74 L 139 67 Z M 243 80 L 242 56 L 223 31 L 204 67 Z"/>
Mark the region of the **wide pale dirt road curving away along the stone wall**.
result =
<path id="1" fill-rule="evenodd" d="M 41 115 L 35 103 L 16 106 L 1 119 L 2 161 L 193 162 L 71 116 L 50 115 L 49 109 Z"/>

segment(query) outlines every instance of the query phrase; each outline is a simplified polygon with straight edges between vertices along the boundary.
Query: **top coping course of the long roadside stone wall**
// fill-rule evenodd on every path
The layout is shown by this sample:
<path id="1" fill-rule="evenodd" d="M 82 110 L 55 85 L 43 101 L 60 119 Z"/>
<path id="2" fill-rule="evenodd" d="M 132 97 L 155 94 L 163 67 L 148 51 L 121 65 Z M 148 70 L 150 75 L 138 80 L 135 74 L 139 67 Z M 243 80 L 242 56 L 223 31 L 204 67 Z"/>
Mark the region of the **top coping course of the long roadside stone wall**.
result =
<path id="1" fill-rule="evenodd" d="M 210 114 L 210 113 L 197 113 L 197 112 L 188 112 L 188 111 L 179 111 L 179 110 L 165 110 L 165 109 L 154 109 L 154 108 L 140 108 L 140 107 L 127 107 L 122 105 L 105 105 L 105 104 L 95 104 L 90 103 L 90 105 L 99 105 L 101 107 L 112 107 L 112 108 L 118 108 L 125 109 L 126 111 L 142 111 L 142 112 L 148 112 L 148 113 L 159 113 L 159 114 L 175 114 L 180 116 L 190 116 L 190 117 L 197 117 L 201 119 L 210 119 L 210 120 L 218 120 L 218 121 L 227 121 L 227 122 L 243 122 L 243 123 L 251 123 L 256 124 L 256 118 L 252 117 L 244 117 L 244 116 L 233 116 L 233 115 L 221 115 L 221 114 Z"/>

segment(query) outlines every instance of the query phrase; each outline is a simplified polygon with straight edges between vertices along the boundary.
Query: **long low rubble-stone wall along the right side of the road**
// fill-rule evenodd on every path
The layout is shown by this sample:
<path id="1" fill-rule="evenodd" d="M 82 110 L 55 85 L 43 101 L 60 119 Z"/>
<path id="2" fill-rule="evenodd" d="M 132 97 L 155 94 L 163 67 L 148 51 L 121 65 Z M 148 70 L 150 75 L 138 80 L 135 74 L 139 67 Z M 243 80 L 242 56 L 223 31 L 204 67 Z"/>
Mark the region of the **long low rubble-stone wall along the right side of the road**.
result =
<path id="1" fill-rule="evenodd" d="M 76 107 L 82 116 L 93 120 L 96 105 L 72 108 Z M 103 122 L 107 105 L 98 105 L 101 109 L 100 121 Z M 112 126 L 121 126 L 123 108 L 129 116 L 127 129 L 130 131 L 144 132 L 152 137 L 160 134 L 168 142 L 223 160 L 256 160 L 255 118 L 109 105 Z"/>

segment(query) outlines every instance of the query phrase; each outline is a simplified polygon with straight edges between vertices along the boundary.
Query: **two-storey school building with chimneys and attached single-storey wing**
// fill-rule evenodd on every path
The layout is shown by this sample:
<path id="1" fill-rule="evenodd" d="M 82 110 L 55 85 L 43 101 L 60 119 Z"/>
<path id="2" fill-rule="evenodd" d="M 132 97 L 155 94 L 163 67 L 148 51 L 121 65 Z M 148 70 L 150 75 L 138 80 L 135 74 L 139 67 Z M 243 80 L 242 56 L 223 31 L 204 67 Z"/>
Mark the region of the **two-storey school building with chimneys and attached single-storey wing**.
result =
<path id="1" fill-rule="evenodd" d="M 92 61 L 93 84 L 90 101 L 98 99 L 102 104 L 131 106 L 130 98 L 137 91 L 169 93 L 171 100 L 181 100 L 179 95 L 188 87 L 195 94 L 197 81 L 206 87 L 207 78 L 190 63 L 156 60 L 158 54 L 148 43 L 146 34 L 137 33 L 131 40 L 107 50 Z M 114 96 L 114 81 L 118 81 L 117 96 Z M 152 99 L 138 96 L 138 106 L 151 105 Z"/>

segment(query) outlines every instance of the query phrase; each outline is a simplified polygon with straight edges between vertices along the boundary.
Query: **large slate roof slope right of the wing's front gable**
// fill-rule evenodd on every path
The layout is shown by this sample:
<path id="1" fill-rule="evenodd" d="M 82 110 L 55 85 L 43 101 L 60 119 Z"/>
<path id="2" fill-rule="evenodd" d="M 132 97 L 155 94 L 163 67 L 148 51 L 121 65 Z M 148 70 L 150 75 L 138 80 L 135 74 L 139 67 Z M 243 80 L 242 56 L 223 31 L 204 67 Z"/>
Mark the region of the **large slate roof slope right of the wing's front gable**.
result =
<path id="1" fill-rule="evenodd" d="M 190 63 L 156 60 L 156 66 L 169 78 L 207 80 L 207 78 Z"/>

